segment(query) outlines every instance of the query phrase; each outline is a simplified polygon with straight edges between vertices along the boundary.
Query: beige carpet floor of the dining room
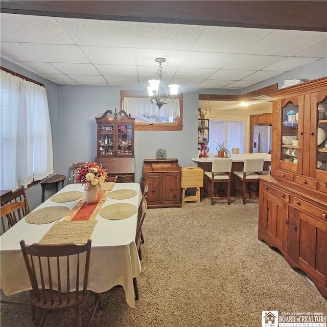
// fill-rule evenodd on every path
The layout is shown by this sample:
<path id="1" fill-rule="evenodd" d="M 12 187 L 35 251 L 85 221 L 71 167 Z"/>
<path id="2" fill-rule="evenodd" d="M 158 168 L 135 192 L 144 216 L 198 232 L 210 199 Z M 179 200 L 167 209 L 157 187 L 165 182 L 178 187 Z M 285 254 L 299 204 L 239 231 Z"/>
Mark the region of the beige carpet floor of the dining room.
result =
<path id="1" fill-rule="evenodd" d="M 101 295 L 104 310 L 93 327 L 255 327 L 263 310 L 327 315 L 327 301 L 308 278 L 258 240 L 258 203 L 233 198 L 211 206 L 204 199 L 148 209 L 143 231 L 135 309 L 115 287 Z M 28 293 L 15 297 L 28 300 Z M 73 316 L 51 314 L 45 326 L 73 326 Z M 32 325 L 28 306 L 1 306 L 1 327 Z"/>

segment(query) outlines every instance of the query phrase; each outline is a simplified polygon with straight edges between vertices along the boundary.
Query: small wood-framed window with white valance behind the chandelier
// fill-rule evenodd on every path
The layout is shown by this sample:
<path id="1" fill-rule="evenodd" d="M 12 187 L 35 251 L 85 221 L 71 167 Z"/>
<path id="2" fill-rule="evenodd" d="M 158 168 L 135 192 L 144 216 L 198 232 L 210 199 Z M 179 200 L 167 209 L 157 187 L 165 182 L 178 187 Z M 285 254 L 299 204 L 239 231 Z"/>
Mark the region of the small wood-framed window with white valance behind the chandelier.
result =
<path id="1" fill-rule="evenodd" d="M 135 130 L 182 130 L 182 95 L 159 109 L 137 91 L 121 91 L 121 110 L 135 118 Z"/>

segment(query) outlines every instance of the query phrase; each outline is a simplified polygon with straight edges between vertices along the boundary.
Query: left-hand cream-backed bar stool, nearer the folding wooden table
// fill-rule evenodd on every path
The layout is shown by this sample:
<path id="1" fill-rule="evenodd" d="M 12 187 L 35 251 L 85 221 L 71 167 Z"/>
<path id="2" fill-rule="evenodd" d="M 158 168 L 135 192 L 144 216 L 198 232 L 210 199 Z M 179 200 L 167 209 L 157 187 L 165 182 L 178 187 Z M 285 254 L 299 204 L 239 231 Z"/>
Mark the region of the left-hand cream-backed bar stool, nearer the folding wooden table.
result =
<path id="1" fill-rule="evenodd" d="M 211 205 L 214 205 L 215 200 L 227 200 L 230 204 L 231 166 L 231 158 L 214 158 L 212 171 L 204 172 L 204 193 L 210 195 Z M 227 190 L 223 189 L 223 184 L 227 184 Z"/>

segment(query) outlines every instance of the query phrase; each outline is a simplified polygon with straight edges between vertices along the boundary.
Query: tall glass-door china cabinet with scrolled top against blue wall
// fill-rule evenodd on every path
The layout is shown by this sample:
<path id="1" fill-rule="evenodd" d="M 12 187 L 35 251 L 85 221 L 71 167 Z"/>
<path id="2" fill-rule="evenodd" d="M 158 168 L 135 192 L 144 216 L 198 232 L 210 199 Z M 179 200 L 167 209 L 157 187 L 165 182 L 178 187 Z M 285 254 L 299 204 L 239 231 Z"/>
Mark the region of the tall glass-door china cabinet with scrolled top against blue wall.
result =
<path id="1" fill-rule="evenodd" d="M 96 162 L 118 175 L 118 182 L 134 182 L 134 118 L 125 111 L 107 110 L 97 121 Z"/>

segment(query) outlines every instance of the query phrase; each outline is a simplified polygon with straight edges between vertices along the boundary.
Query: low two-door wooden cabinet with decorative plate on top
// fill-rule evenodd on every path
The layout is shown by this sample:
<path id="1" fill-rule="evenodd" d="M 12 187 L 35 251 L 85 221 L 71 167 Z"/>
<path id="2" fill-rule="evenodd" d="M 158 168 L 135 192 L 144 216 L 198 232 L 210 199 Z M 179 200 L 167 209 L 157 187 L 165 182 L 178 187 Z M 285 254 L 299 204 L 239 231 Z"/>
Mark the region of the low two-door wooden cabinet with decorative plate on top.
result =
<path id="1" fill-rule="evenodd" d="M 181 207 L 181 167 L 177 159 L 144 159 L 143 182 L 149 182 L 148 208 Z"/>

